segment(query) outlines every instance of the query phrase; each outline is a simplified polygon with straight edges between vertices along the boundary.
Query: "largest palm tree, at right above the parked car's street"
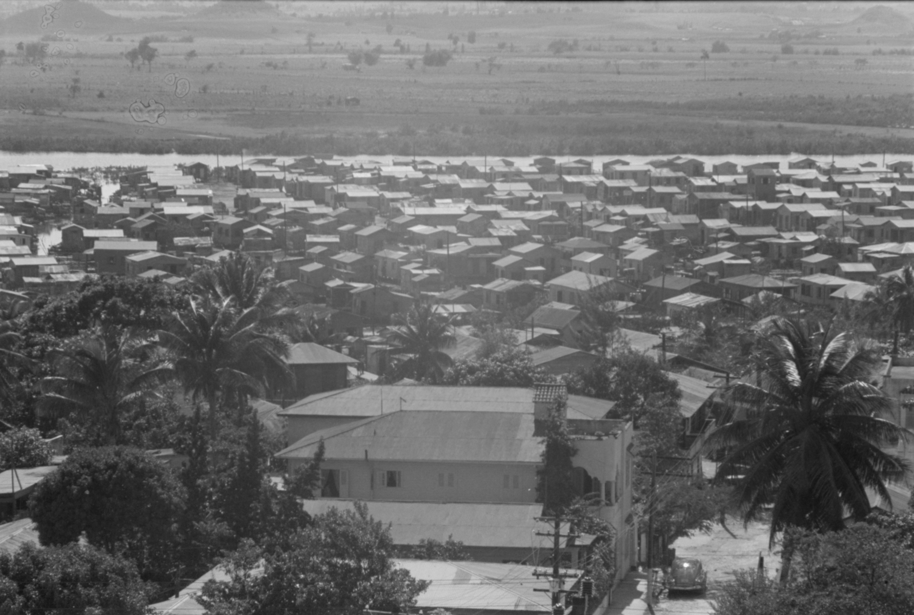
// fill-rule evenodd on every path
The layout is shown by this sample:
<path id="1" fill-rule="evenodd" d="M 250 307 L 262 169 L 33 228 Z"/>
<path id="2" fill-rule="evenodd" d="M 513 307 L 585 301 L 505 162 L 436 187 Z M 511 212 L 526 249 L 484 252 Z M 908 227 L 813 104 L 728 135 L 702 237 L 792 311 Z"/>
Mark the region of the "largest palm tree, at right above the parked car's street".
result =
<path id="1" fill-rule="evenodd" d="M 863 519 L 866 488 L 890 503 L 885 481 L 901 479 L 908 464 L 879 447 L 909 432 L 879 418 L 891 399 L 870 384 L 881 365 L 877 352 L 846 333 L 783 318 L 757 347 L 749 378 L 757 384 L 731 387 L 744 416 L 709 440 L 729 451 L 717 479 L 737 480 L 743 520 L 773 504 L 773 544 L 788 527 L 839 530 L 847 514 Z"/>

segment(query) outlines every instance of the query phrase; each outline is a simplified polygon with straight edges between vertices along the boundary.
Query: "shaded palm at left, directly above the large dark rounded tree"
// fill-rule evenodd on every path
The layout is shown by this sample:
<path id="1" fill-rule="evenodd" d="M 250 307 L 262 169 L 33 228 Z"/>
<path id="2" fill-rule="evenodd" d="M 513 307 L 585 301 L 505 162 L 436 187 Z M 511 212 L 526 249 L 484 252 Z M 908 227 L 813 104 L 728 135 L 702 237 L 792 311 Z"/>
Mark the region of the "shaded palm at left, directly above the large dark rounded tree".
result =
<path id="1" fill-rule="evenodd" d="M 171 376 L 168 366 L 147 367 L 143 340 L 114 326 L 97 326 L 78 345 L 52 351 L 54 376 L 41 380 L 40 414 L 76 414 L 94 437 L 117 444 L 125 412 L 152 393 L 152 385 Z"/>

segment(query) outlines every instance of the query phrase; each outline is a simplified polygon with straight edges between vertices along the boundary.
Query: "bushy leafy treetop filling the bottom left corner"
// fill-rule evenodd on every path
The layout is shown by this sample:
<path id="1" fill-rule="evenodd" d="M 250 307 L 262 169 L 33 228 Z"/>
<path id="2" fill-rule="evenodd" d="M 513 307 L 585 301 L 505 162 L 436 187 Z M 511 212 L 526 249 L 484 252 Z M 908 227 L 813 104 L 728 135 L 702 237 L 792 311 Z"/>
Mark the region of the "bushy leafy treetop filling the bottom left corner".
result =
<path id="1" fill-rule="evenodd" d="M 0 610 L 145 615 L 154 588 L 129 559 L 94 546 L 31 544 L 0 552 Z"/>

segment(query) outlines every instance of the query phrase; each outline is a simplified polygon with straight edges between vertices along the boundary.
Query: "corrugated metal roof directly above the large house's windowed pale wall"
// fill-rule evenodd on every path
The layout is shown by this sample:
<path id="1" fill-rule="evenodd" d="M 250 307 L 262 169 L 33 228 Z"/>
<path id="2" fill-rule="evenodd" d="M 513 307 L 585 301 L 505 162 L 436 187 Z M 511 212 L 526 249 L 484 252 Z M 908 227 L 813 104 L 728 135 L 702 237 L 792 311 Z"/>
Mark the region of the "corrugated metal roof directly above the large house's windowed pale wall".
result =
<path id="1" fill-rule="evenodd" d="M 376 461 L 539 463 L 533 422 L 532 412 L 395 411 L 315 431 L 276 457 L 311 458 L 324 440 L 327 460 L 362 460 L 367 451 Z"/>

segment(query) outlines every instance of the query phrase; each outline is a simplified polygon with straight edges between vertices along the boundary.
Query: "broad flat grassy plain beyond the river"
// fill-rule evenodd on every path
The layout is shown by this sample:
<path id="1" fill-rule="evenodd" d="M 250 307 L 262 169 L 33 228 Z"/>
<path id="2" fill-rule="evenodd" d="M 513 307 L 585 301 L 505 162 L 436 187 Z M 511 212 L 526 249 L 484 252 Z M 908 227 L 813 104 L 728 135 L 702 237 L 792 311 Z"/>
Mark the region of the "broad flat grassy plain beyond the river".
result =
<path id="1" fill-rule="evenodd" d="M 54 147 L 81 136 L 108 148 L 183 141 L 206 149 L 215 145 L 200 135 L 230 137 L 225 146 L 236 147 L 282 133 L 292 143 L 333 135 L 334 148 L 392 151 L 404 147 L 401 137 L 425 150 L 448 137 L 460 151 L 910 148 L 903 143 L 911 136 L 904 127 L 914 125 L 907 5 L 875 21 L 851 3 L 747 4 L 732 12 L 723 3 L 484 3 L 480 15 L 459 13 L 474 3 L 450 4 L 450 15 L 443 5 L 416 3 L 380 16 L 388 6 L 294 3 L 283 5 L 285 13 L 99 18 L 69 30 L 61 19 L 48 42 L 58 55 L 45 58 L 44 71 L 17 56 L 16 43 L 48 37 L 58 24 L 7 30 L 0 48 L 12 57 L 0 68 L 0 107 L 9 112 L 0 114 L 0 145 L 40 137 Z M 159 58 L 151 70 L 122 58 L 143 36 L 161 41 L 153 43 Z M 729 51 L 710 52 L 717 40 Z M 792 53 L 782 53 L 788 44 Z M 377 65 L 343 69 L 350 51 L 378 45 Z M 427 47 L 452 50 L 452 60 L 423 67 Z M 191 50 L 197 57 L 186 59 Z M 68 87 L 77 79 L 74 95 Z M 189 89 L 178 97 L 182 79 Z M 340 104 L 346 97 L 360 104 Z M 128 111 L 150 100 L 164 105 L 165 123 L 136 122 Z M 860 126 L 869 128 L 853 128 Z"/>

